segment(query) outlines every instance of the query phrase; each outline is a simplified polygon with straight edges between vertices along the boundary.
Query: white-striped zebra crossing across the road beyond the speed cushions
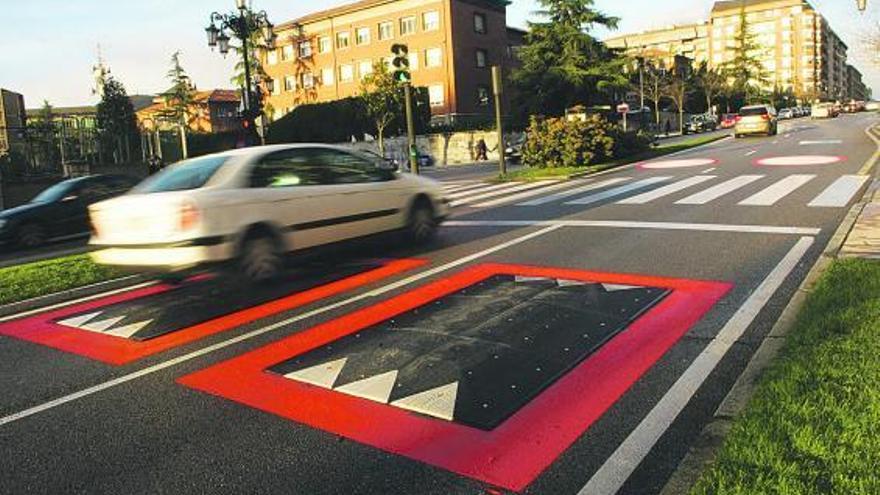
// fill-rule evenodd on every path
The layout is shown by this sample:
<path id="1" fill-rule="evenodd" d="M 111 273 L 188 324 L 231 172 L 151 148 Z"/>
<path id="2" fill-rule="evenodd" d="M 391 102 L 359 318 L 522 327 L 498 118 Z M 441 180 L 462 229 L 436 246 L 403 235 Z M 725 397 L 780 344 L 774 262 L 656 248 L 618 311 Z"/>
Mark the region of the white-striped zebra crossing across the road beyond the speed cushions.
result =
<path id="1" fill-rule="evenodd" d="M 599 203 L 649 205 L 664 199 L 672 200 L 674 205 L 699 206 L 721 202 L 725 198 L 735 198 L 736 206 L 772 207 L 810 187 L 814 194 L 820 192 L 806 202 L 807 207 L 842 208 L 867 180 L 867 176 L 843 175 L 820 188 L 817 174 L 792 174 L 782 178 L 747 174 L 723 178 L 700 173 L 678 177 L 662 175 L 502 184 L 450 182 L 443 185 L 443 190 L 454 208 L 535 207 L 551 203 L 570 206 Z"/>

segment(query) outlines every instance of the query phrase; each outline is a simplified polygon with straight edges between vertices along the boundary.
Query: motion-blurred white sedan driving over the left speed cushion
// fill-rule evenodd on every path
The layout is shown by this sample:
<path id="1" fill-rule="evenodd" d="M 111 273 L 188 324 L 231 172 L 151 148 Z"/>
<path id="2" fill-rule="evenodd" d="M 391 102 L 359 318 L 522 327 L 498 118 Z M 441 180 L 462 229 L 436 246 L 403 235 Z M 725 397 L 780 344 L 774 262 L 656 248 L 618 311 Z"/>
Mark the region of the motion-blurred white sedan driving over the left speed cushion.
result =
<path id="1" fill-rule="evenodd" d="M 91 256 L 172 274 L 234 262 L 261 281 L 291 251 L 398 229 L 425 242 L 448 211 L 439 183 L 378 155 L 318 144 L 245 148 L 185 160 L 92 205 Z"/>

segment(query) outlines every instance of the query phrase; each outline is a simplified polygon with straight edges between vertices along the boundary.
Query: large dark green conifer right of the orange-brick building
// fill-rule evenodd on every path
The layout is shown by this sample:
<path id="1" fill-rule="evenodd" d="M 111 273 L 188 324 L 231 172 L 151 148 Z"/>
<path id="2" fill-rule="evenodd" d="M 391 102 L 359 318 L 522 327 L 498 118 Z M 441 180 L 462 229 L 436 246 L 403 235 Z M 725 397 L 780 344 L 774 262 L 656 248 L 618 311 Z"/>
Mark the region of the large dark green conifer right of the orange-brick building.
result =
<path id="1" fill-rule="evenodd" d="M 521 67 L 511 75 L 523 110 L 561 115 L 575 104 L 594 104 L 627 84 L 625 59 L 590 35 L 618 19 L 593 8 L 593 0 L 539 0 L 543 22 L 529 23 Z M 607 94 L 607 93 L 606 93 Z"/>

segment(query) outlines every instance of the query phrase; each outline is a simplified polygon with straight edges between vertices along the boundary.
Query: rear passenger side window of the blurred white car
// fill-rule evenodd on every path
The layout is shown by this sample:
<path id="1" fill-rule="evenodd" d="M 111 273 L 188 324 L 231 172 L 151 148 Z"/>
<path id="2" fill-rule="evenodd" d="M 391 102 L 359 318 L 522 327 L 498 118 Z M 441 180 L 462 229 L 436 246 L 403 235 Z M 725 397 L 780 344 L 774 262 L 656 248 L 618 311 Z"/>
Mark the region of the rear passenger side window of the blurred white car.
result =
<path id="1" fill-rule="evenodd" d="M 278 188 L 330 183 L 317 151 L 298 148 L 263 157 L 251 170 L 249 187 Z"/>

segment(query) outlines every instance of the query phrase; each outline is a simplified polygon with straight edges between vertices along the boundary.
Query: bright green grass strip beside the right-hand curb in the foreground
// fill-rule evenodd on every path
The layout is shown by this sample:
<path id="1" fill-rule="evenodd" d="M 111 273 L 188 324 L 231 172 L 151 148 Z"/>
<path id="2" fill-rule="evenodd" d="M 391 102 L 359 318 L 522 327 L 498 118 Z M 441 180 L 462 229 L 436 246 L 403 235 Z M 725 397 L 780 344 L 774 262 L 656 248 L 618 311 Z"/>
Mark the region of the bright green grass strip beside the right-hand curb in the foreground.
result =
<path id="1" fill-rule="evenodd" d="M 880 493 L 880 263 L 836 261 L 692 495 Z"/>

